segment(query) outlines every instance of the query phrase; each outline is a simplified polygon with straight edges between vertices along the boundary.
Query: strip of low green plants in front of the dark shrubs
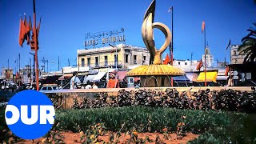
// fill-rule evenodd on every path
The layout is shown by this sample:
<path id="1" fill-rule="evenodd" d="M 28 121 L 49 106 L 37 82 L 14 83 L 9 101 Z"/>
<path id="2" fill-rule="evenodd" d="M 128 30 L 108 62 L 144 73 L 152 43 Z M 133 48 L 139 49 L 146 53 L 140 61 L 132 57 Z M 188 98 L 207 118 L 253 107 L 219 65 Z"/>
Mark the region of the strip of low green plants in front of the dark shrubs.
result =
<path id="1" fill-rule="evenodd" d="M 186 119 L 182 120 L 185 115 Z M 170 131 L 176 131 L 178 122 L 185 122 L 186 131 L 194 134 L 205 134 L 204 138 L 220 140 L 220 142 L 243 142 L 243 122 L 246 114 L 205 111 L 205 110 L 178 110 L 164 107 L 125 106 L 103 107 L 89 110 L 58 110 L 56 122 L 60 122 L 63 130 L 86 130 L 95 123 L 104 123 L 111 131 L 132 130 L 138 132 L 162 132 L 167 126 Z M 214 140 L 215 138 L 215 140 Z M 210 140 L 211 140 L 210 139 Z M 209 139 L 208 139 L 209 140 Z M 207 142 L 207 141 L 206 141 Z"/>

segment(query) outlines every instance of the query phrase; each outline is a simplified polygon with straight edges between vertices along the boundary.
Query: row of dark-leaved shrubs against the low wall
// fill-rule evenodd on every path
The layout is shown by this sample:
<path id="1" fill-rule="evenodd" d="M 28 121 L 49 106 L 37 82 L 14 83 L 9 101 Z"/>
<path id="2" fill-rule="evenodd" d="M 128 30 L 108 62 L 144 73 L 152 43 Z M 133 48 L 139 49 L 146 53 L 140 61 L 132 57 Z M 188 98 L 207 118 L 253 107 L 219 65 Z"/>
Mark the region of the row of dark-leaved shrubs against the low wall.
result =
<path id="1" fill-rule="evenodd" d="M 73 109 L 90 109 L 105 106 L 150 106 L 172 107 L 190 110 L 230 110 L 240 112 L 256 111 L 256 92 L 239 90 L 200 90 L 198 92 L 178 92 L 173 89 L 156 90 L 120 90 L 117 97 L 106 93 L 98 94 L 94 100 L 84 97 L 74 98 Z"/>

